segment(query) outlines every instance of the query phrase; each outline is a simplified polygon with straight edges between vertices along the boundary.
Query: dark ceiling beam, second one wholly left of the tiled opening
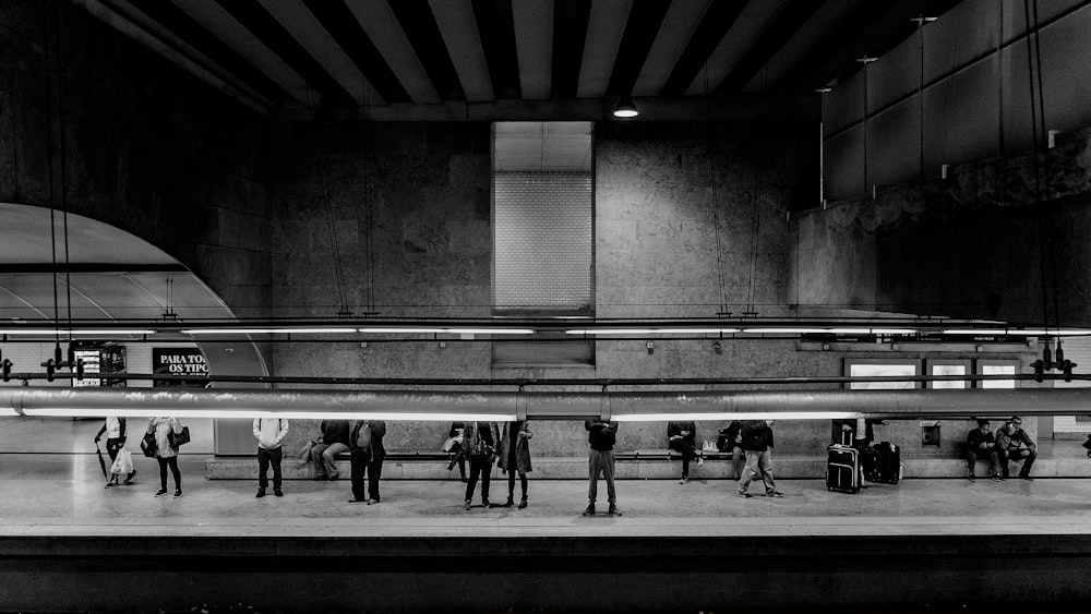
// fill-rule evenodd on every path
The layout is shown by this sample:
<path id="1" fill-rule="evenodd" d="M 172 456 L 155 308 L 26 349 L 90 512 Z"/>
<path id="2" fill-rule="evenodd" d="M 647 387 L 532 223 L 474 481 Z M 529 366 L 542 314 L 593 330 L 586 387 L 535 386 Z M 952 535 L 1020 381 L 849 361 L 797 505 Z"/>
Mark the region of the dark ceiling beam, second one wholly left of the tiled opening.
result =
<path id="1" fill-rule="evenodd" d="M 303 0 L 322 27 L 352 60 L 387 104 L 409 103 L 411 98 L 401 82 L 386 64 L 382 53 L 360 27 L 352 12 L 341 0 Z"/>

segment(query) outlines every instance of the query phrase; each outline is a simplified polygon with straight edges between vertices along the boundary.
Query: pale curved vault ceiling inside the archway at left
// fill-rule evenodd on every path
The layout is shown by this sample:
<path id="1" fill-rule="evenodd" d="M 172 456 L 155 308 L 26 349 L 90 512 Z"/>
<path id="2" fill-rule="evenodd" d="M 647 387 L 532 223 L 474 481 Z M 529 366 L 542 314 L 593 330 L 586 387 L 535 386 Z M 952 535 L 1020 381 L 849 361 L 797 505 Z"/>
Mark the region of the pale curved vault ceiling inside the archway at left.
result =
<path id="1" fill-rule="evenodd" d="M 65 258 L 60 212 L 0 203 L 0 322 L 67 320 L 70 304 L 73 320 L 231 317 L 178 261 L 117 228 L 68 215 Z"/>

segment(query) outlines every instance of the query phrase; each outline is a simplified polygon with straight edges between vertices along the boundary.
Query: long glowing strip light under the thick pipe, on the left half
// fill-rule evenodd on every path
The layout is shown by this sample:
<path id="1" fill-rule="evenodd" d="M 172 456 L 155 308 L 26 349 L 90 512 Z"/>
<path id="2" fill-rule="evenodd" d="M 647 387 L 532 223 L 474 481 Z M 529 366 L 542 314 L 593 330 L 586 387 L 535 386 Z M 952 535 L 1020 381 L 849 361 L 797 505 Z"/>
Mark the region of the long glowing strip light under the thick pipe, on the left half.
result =
<path id="1" fill-rule="evenodd" d="M 10 409 L 10 408 L 9 408 Z M 0 416 L 8 416 L 0 409 Z M 10 409 L 11 416 L 21 416 Z M 432 422 L 515 422 L 516 416 L 505 413 L 415 413 L 397 411 L 301 411 L 298 409 L 271 411 L 268 409 L 121 409 L 121 408 L 55 408 L 39 407 L 23 410 L 22 416 L 38 418 L 288 418 L 293 420 L 421 420 Z"/>

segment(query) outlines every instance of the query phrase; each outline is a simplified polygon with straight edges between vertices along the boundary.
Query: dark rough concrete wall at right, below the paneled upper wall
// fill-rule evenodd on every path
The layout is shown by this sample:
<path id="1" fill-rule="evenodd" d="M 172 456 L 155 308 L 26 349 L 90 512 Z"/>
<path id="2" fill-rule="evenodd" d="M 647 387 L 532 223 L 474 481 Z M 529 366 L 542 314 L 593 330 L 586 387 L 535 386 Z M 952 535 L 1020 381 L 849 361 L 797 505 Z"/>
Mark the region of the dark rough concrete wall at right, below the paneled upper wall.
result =
<path id="1" fill-rule="evenodd" d="M 1040 168 L 1041 207 L 1022 152 L 793 216 L 799 303 L 1088 326 L 1091 129 Z"/>

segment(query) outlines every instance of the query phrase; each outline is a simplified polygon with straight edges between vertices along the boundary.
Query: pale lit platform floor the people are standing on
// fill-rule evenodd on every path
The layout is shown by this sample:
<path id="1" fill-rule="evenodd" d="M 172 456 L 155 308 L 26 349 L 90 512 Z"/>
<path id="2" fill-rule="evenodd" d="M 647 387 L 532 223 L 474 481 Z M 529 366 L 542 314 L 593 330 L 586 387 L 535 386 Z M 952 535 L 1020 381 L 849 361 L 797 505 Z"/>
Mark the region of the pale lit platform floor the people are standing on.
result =
<path id="1" fill-rule="evenodd" d="M 195 445 L 183 448 L 183 496 L 156 498 L 158 467 L 143 457 L 134 457 L 139 473 L 132 485 L 103 487 L 91 452 L 98 421 L 13 420 L 20 421 L 0 424 L 0 534 L 5 535 L 108 534 L 118 527 L 129 534 L 171 527 L 194 535 L 297 537 L 327 535 L 332 528 L 340 534 L 457 535 L 468 527 L 493 535 L 595 534 L 603 527 L 634 535 L 1091 534 L 1091 480 L 1086 479 L 907 479 L 898 485 L 872 484 L 855 495 L 828 492 L 822 480 L 780 480 L 783 498 L 763 496 L 755 483 L 755 496 L 744 499 L 736 496 L 735 482 L 703 479 L 695 468 L 684 485 L 676 480 L 619 480 L 624 515 L 590 518 L 580 516 L 586 481 L 535 480 L 532 473 L 525 510 L 481 507 L 479 485 L 475 507 L 465 511 L 465 485 L 457 471 L 447 480 L 383 481 L 383 501 L 376 506 L 348 503 L 347 475 L 335 482 L 286 481 L 284 497 L 256 499 L 253 481 L 204 479 L 212 450 L 196 442 L 211 436 L 195 437 Z M 211 433 L 208 422 L 191 429 Z M 1071 456 L 1078 449 L 1075 442 L 1045 443 L 1042 456 L 1056 450 Z M 507 481 L 499 470 L 494 473 L 490 498 L 497 504 L 506 498 Z M 606 483 L 600 481 L 599 511 L 606 507 Z"/>

